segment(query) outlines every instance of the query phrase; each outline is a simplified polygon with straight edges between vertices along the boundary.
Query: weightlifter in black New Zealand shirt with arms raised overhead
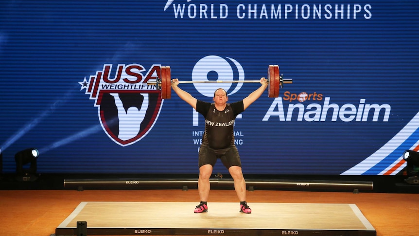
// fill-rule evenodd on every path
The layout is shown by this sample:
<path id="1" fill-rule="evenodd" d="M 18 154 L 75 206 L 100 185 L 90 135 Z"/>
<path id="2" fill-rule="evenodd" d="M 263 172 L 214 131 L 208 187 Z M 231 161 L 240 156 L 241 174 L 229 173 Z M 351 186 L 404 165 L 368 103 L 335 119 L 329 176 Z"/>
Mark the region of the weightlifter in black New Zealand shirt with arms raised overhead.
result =
<path id="1" fill-rule="evenodd" d="M 209 103 L 197 100 L 190 93 L 180 89 L 178 79 L 172 80 L 173 91 L 205 118 L 205 130 L 198 154 L 198 193 L 201 202 L 195 207 L 194 213 L 208 212 L 207 200 L 210 194 L 210 176 L 217 159 L 221 159 L 234 180 L 234 189 L 240 201 L 240 212 L 252 213 L 246 202 L 246 183 L 242 173 L 239 152 L 234 145 L 233 127 L 236 116 L 256 101 L 268 87 L 265 78 L 261 78 L 260 83 L 261 86 L 242 101 L 227 103 L 227 92 L 223 89 L 217 89 L 212 98 L 213 103 Z"/>

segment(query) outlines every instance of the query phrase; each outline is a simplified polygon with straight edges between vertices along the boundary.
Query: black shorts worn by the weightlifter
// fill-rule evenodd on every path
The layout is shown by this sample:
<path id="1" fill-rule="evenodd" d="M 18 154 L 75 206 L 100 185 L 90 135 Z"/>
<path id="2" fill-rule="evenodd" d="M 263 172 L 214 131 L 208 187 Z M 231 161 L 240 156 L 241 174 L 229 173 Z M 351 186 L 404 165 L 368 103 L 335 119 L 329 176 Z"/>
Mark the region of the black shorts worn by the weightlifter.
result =
<path id="1" fill-rule="evenodd" d="M 215 165 L 217 159 L 221 159 L 221 162 L 230 168 L 231 166 L 240 166 L 242 167 L 242 162 L 240 161 L 239 151 L 236 146 L 230 146 L 224 149 L 213 149 L 209 146 L 202 146 L 199 148 L 198 154 L 198 165 L 199 167 L 210 164 Z"/>

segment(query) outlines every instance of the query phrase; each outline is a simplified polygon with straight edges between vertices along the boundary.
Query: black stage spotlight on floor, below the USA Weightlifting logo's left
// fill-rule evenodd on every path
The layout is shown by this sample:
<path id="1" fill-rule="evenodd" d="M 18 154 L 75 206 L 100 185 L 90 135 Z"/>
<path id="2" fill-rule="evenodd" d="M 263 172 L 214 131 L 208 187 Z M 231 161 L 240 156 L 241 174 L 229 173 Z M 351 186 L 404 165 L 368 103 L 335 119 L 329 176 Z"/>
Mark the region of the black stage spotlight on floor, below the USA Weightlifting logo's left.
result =
<path id="1" fill-rule="evenodd" d="M 35 181 L 36 175 L 36 159 L 39 156 L 38 149 L 27 148 L 15 154 L 16 174 L 18 181 Z M 24 168 L 24 165 L 29 164 L 29 168 Z"/>

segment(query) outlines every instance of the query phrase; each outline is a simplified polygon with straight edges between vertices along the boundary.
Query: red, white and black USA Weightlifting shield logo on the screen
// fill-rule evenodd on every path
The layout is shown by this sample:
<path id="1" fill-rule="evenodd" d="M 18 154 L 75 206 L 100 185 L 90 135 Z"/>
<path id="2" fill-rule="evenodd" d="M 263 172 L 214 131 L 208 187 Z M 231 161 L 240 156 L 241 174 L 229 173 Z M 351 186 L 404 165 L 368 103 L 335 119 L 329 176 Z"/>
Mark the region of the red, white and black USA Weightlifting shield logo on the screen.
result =
<path id="1" fill-rule="evenodd" d="M 105 64 L 102 71 L 78 82 L 85 94 L 95 100 L 99 121 L 108 137 L 121 146 L 140 141 L 153 128 L 163 101 L 156 85 L 148 80 L 160 77 L 160 65 L 148 72 L 139 64 Z M 115 74 L 111 78 L 111 74 Z"/>

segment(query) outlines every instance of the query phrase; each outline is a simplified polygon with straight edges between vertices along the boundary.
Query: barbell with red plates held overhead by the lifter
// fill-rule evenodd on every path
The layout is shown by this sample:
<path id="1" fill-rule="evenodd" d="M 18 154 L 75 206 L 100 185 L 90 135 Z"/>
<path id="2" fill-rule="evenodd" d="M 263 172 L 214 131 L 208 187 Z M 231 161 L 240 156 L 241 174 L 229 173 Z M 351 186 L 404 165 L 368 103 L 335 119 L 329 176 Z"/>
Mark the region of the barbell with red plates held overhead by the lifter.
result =
<path id="1" fill-rule="evenodd" d="M 260 83 L 260 80 L 205 80 L 205 81 L 179 81 L 179 84 L 192 83 Z M 292 84 L 292 79 L 283 79 L 283 75 L 279 75 L 278 65 L 269 65 L 268 68 L 268 97 L 274 98 L 279 96 L 279 89 L 283 84 Z M 172 78 L 170 66 L 162 66 L 160 69 L 160 78 L 155 81 L 147 82 L 147 85 L 156 85 L 157 90 L 161 90 L 161 98 L 169 99 L 172 97 Z"/>

